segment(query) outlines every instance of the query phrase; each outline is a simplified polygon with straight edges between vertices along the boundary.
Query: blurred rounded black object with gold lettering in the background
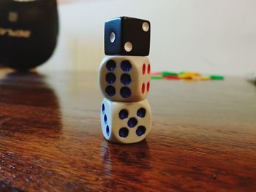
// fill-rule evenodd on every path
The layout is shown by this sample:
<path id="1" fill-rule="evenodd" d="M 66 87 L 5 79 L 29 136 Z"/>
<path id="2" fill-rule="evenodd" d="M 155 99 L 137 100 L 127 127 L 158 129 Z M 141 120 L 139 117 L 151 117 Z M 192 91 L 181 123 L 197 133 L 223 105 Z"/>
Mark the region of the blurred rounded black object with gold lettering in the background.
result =
<path id="1" fill-rule="evenodd" d="M 0 0 L 0 64 L 28 70 L 43 64 L 56 47 L 56 0 Z"/>

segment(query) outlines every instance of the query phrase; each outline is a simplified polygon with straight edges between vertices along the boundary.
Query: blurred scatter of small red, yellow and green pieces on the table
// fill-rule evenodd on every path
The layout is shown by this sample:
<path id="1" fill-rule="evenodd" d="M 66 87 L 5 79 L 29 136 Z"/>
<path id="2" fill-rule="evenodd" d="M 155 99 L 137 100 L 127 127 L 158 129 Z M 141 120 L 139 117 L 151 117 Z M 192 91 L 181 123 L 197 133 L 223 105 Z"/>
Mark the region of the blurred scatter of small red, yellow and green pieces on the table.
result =
<path id="1" fill-rule="evenodd" d="M 202 75 L 197 72 L 154 72 L 151 74 L 152 80 L 224 80 L 221 75 Z"/>

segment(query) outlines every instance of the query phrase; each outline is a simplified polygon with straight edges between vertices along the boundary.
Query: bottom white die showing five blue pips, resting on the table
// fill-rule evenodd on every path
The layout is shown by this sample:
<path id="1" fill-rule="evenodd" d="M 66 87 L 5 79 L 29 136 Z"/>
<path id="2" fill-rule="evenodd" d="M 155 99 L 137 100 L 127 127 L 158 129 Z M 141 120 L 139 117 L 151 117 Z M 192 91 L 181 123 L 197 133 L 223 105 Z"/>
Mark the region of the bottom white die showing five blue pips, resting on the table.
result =
<path id="1" fill-rule="evenodd" d="M 139 102 L 102 101 L 102 133 L 110 142 L 140 142 L 151 131 L 151 124 L 151 108 L 147 99 Z"/>

